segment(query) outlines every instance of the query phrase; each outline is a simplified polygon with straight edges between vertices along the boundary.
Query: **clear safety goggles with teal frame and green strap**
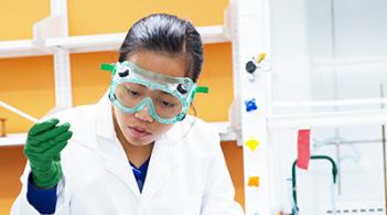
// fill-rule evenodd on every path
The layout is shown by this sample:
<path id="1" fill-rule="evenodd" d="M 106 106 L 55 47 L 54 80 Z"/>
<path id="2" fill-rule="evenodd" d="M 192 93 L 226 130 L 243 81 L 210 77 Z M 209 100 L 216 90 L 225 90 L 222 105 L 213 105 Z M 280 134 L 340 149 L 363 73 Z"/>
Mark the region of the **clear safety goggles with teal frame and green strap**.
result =
<path id="1" fill-rule="evenodd" d="M 147 107 L 152 118 L 161 123 L 182 120 L 195 93 L 208 92 L 189 77 L 146 71 L 129 61 L 103 64 L 101 69 L 112 72 L 109 99 L 114 106 L 131 114 Z"/>

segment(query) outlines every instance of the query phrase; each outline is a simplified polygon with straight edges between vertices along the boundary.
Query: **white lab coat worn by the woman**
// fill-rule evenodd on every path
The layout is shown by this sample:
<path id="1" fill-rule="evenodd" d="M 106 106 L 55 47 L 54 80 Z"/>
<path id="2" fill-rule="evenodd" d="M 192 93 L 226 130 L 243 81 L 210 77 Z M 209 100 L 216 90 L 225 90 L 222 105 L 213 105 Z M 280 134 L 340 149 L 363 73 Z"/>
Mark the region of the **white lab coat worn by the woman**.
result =
<path id="1" fill-rule="evenodd" d="M 234 202 L 219 137 L 209 123 L 187 116 L 158 140 L 140 193 L 116 137 L 106 95 L 96 105 L 76 107 L 55 117 L 71 123 L 74 140 L 62 151 L 64 176 L 57 186 L 55 214 L 243 214 Z M 11 209 L 13 215 L 39 214 L 26 200 L 29 174 L 28 163 L 21 176 L 22 191 Z"/>

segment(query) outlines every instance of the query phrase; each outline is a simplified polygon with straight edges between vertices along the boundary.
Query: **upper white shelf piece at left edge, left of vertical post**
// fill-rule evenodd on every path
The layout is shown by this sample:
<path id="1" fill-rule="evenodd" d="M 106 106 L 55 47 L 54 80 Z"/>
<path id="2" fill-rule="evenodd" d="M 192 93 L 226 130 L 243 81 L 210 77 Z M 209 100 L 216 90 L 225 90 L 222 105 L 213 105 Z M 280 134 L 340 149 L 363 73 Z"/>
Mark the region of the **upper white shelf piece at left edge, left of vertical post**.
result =
<path id="1" fill-rule="evenodd" d="M 0 41 L 0 58 L 47 55 L 32 40 Z"/>

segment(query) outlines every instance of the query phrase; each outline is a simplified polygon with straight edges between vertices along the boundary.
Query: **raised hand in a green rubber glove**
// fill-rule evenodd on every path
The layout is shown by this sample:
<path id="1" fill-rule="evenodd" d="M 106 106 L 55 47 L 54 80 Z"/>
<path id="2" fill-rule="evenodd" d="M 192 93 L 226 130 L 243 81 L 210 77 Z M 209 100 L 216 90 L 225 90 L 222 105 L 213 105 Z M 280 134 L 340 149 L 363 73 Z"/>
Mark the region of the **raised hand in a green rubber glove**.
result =
<path id="1" fill-rule="evenodd" d="M 58 119 L 35 123 L 28 133 L 24 154 L 30 161 L 34 185 L 51 189 L 62 179 L 61 151 L 73 132 Z"/>

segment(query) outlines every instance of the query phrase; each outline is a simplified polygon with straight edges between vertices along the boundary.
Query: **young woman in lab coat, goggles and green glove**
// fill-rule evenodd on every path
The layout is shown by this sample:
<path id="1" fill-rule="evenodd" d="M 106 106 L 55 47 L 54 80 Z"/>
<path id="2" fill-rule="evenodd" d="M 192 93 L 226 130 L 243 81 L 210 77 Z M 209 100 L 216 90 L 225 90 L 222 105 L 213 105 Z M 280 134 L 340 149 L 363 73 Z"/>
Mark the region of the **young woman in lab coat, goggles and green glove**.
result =
<path id="1" fill-rule="evenodd" d="M 203 62 L 191 22 L 129 30 L 108 93 L 34 125 L 11 214 L 239 215 L 218 133 L 187 116 Z"/>

